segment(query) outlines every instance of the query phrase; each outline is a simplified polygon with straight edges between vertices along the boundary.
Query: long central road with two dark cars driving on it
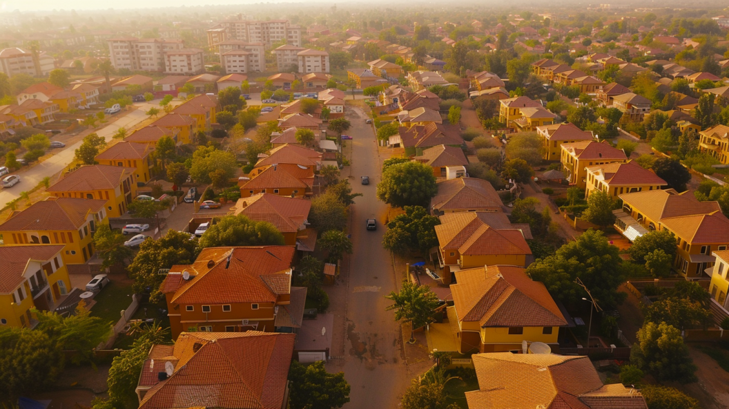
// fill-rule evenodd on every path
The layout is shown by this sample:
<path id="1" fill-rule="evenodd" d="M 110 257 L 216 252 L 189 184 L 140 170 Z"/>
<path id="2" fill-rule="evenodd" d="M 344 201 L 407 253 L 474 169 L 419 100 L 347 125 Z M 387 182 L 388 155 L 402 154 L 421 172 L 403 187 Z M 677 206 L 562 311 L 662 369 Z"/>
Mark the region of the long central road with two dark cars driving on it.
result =
<path id="1" fill-rule="evenodd" d="M 375 134 L 364 123 L 359 109 L 350 109 L 353 127 L 351 182 L 356 198 L 352 209 L 351 234 L 354 254 L 350 257 L 347 293 L 347 337 L 343 371 L 351 385 L 351 402 L 345 408 L 395 408 L 398 396 L 410 384 L 408 367 L 401 354 L 402 340 L 394 313 L 385 311 L 384 296 L 396 289 L 390 254 L 382 246 L 386 205 L 375 197 L 381 165 Z M 359 176 L 370 176 L 363 186 Z M 378 230 L 367 231 L 365 219 L 378 219 Z M 342 368 L 338 368 L 342 370 Z"/>

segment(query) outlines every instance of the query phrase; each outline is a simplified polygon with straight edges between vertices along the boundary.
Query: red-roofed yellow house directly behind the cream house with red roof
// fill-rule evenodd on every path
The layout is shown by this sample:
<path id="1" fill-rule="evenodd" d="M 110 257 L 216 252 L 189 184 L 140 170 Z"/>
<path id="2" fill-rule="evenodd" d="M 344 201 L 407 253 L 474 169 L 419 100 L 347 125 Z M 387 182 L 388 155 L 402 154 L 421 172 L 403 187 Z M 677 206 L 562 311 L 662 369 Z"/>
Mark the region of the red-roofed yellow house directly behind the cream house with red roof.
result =
<path id="1" fill-rule="evenodd" d="M 628 157 L 621 149 L 611 147 L 607 142 L 581 141 L 572 144 L 562 144 L 561 163 L 562 170 L 569 184 L 577 185 L 580 189 L 587 187 L 587 168 L 593 165 L 625 162 Z"/>

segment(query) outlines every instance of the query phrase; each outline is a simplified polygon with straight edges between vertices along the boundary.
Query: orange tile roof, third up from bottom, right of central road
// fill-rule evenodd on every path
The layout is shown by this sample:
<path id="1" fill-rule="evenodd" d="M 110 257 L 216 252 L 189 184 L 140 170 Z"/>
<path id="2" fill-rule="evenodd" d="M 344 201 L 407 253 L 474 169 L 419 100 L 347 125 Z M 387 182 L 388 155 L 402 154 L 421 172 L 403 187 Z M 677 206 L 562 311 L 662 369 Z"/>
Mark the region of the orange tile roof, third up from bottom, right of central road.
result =
<path id="1" fill-rule="evenodd" d="M 512 225 L 500 212 L 467 211 L 440 216 L 435 226 L 440 248 L 465 255 L 531 254 L 529 225 Z"/>

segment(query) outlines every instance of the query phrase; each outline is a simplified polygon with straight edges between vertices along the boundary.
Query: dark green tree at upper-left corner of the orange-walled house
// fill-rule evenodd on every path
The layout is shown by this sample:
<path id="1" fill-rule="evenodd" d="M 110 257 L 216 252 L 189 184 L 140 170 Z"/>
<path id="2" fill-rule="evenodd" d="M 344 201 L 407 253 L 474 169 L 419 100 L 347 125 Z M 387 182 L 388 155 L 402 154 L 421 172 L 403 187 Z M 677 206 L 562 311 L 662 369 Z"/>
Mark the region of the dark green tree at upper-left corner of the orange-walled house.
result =
<path id="1" fill-rule="evenodd" d="M 187 233 L 168 230 L 158 240 L 145 240 L 139 245 L 134 260 L 127 267 L 134 278 L 132 286 L 136 294 L 149 294 L 152 303 L 163 300 L 159 287 L 165 276 L 159 270 L 176 264 L 192 264 L 198 257 L 198 238 L 190 238 Z M 137 374 L 139 377 L 139 374 Z"/>

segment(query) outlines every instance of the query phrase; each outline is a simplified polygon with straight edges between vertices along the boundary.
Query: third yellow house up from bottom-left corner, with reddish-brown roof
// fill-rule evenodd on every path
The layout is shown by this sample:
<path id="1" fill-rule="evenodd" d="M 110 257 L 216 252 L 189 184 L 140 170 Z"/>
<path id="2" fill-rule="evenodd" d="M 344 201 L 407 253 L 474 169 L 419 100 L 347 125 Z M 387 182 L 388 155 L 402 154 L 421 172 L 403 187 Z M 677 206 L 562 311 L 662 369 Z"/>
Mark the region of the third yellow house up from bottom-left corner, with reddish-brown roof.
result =
<path id="1" fill-rule="evenodd" d="M 61 198 L 106 200 L 106 214 L 121 217 L 137 197 L 134 168 L 87 165 L 72 171 L 52 184 L 46 192 Z"/>

